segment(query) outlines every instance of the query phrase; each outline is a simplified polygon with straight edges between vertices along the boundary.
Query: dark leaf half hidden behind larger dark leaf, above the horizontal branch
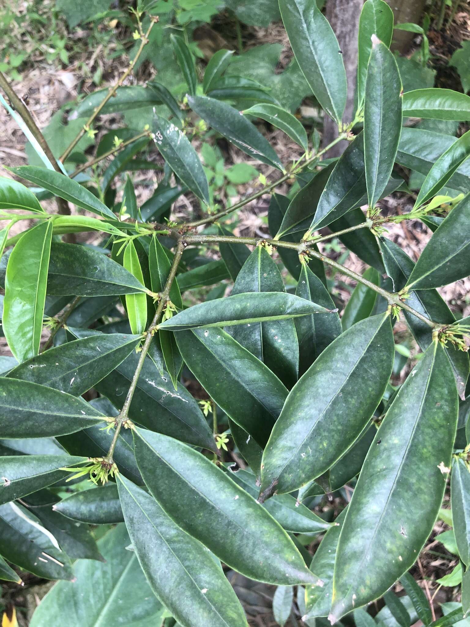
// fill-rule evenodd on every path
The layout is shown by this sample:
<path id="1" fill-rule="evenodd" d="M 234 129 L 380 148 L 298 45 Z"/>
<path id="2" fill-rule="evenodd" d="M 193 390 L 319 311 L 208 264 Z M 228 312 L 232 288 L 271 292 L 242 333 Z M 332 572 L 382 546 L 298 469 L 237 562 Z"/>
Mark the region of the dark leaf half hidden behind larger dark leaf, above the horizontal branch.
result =
<path id="1" fill-rule="evenodd" d="M 318 202 L 334 167 L 335 164 L 330 164 L 330 166 L 323 168 L 296 193 L 285 212 L 279 231 L 276 234 L 277 240 L 290 233 L 297 233 L 298 231 L 305 233 L 311 224 L 313 216 L 315 216 Z"/>

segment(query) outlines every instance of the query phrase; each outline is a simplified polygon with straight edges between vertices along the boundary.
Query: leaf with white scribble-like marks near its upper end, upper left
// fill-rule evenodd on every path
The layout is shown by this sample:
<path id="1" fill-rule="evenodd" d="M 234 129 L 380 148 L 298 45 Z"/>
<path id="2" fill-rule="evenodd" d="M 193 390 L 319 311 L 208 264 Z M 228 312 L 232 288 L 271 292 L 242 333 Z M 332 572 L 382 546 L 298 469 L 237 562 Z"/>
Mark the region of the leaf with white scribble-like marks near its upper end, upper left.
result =
<path id="1" fill-rule="evenodd" d="M 185 134 L 160 115 L 152 126 L 154 141 L 172 171 L 204 203 L 209 204 L 209 184 L 196 150 Z"/>

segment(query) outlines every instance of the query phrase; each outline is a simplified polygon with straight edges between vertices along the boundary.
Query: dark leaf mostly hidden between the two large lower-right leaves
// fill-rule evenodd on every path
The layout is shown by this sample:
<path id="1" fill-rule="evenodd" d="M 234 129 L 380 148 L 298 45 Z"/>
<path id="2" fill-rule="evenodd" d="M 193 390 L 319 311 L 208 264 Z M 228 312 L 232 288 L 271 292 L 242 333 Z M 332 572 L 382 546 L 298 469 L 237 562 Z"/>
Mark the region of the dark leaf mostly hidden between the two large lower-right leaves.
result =
<path id="1" fill-rule="evenodd" d="M 360 469 L 362 468 L 362 464 L 372 444 L 375 433 L 377 433 L 375 426 L 367 426 L 345 455 L 330 468 L 328 478 L 330 479 L 332 492 L 342 488 L 343 485 L 360 473 Z M 313 481 L 307 483 L 303 488 L 300 488 L 298 499 L 303 501 L 307 497 L 316 497 L 324 493 L 325 490 L 323 490 L 318 483 Z"/>

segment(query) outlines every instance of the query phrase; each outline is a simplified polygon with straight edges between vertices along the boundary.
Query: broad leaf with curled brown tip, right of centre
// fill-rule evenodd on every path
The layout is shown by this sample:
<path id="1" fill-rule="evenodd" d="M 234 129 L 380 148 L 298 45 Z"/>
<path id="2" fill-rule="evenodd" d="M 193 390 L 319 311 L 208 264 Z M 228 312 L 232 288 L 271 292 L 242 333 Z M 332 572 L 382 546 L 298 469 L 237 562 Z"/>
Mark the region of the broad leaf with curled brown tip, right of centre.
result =
<path id="1" fill-rule="evenodd" d="M 392 372 L 390 317 L 361 320 L 330 344 L 293 387 L 263 454 L 261 495 L 320 477 L 353 445 Z"/>

